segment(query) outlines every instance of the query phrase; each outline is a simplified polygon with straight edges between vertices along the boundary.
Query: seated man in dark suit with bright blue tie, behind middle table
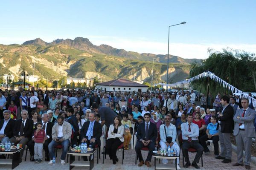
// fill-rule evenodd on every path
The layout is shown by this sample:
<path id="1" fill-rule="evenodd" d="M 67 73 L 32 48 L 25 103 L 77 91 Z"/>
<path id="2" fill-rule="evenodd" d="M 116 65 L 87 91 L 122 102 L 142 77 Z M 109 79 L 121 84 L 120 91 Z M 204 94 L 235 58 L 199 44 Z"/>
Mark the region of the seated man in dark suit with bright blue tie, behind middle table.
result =
<path id="1" fill-rule="evenodd" d="M 100 136 L 102 135 L 102 127 L 99 122 L 95 121 L 95 112 L 92 112 L 89 114 L 89 121 L 84 122 L 84 125 L 81 128 L 80 134 L 81 134 L 81 142 L 86 142 L 87 146 L 92 146 L 92 148 L 95 148 L 95 145 L 100 145 Z M 86 160 L 87 157 L 84 156 L 84 160 Z"/>

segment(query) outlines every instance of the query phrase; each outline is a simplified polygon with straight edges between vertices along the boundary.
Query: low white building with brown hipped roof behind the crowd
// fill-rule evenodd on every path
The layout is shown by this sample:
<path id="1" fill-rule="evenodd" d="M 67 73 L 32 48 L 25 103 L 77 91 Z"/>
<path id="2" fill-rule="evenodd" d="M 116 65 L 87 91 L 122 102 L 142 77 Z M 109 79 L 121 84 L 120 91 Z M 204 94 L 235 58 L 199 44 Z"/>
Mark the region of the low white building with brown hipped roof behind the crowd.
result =
<path id="1" fill-rule="evenodd" d="M 102 91 L 142 91 L 146 92 L 148 86 L 142 85 L 137 82 L 133 82 L 127 79 L 115 79 L 108 82 L 102 82 L 96 84 L 97 89 L 101 89 Z"/>

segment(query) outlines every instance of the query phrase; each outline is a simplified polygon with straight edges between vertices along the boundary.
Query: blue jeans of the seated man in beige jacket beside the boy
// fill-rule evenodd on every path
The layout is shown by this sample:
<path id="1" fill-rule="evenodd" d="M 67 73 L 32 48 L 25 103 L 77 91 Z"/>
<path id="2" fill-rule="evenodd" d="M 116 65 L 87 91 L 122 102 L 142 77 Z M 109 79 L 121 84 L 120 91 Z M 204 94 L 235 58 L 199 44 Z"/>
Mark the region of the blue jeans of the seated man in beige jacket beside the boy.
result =
<path id="1" fill-rule="evenodd" d="M 54 140 L 52 140 L 51 143 L 49 143 L 48 148 L 49 148 L 49 155 L 50 155 L 50 159 L 52 160 L 54 155 L 54 148 L 55 146 L 57 146 L 58 144 L 62 145 L 62 154 L 61 154 L 61 160 L 65 160 L 66 155 L 67 155 L 67 150 L 68 150 L 68 146 L 70 144 L 70 141 L 68 139 L 64 140 L 63 142 L 56 142 Z"/>

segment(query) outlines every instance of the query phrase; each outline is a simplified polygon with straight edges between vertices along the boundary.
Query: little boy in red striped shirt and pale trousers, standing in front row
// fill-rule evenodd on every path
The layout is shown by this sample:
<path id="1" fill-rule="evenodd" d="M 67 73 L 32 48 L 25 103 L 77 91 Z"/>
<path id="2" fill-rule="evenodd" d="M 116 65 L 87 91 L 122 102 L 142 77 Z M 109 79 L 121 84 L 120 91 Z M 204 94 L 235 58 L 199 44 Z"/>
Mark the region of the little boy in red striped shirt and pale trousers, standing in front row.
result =
<path id="1" fill-rule="evenodd" d="M 43 126 L 42 122 L 38 122 L 37 130 L 35 130 L 35 133 L 34 133 L 34 140 L 35 140 L 34 159 L 35 159 L 35 163 L 38 163 L 38 164 L 43 159 L 43 144 L 44 144 L 44 137 L 46 136 L 44 129 L 42 129 L 42 126 Z"/>

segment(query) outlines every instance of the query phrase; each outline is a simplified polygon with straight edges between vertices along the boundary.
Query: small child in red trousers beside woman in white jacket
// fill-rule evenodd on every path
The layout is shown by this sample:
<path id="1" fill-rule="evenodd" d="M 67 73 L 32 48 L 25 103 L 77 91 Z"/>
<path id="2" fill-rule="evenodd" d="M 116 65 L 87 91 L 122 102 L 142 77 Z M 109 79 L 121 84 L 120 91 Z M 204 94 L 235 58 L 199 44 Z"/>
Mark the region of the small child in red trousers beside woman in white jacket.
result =
<path id="1" fill-rule="evenodd" d="M 130 131 L 130 128 L 131 128 L 131 121 L 128 120 L 128 115 L 127 114 L 124 114 L 123 115 L 123 119 L 121 121 L 122 125 L 124 125 L 125 127 L 125 131 L 124 131 L 124 146 L 125 146 L 125 150 L 128 150 L 129 147 L 129 143 L 130 143 L 130 140 L 131 140 L 131 131 Z"/>

